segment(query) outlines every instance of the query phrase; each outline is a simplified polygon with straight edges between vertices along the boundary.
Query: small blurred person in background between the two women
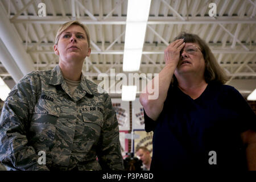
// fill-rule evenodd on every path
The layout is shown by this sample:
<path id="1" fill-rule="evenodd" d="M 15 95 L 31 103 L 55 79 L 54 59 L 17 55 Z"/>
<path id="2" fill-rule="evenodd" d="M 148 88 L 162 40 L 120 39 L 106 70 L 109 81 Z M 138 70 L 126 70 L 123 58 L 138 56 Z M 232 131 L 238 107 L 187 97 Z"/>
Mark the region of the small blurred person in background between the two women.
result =
<path id="1" fill-rule="evenodd" d="M 149 171 L 151 164 L 151 156 L 150 151 L 147 149 L 147 147 L 138 147 L 136 150 L 136 155 L 140 160 L 142 160 L 143 171 Z"/>

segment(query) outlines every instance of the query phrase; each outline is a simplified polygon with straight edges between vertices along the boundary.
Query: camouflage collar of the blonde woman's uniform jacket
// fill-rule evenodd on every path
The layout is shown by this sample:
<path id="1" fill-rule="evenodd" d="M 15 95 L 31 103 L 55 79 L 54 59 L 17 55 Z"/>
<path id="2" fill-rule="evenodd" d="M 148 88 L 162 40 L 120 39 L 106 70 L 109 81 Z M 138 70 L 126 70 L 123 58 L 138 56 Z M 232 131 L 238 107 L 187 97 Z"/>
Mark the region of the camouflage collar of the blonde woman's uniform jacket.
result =
<path id="1" fill-rule="evenodd" d="M 56 65 L 55 68 L 52 69 L 51 71 L 51 77 L 49 80 L 49 84 L 51 85 L 60 85 L 64 83 L 64 78 L 62 76 L 61 70 L 60 70 L 60 66 L 59 64 Z M 81 86 L 81 87 L 80 87 Z M 77 89 L 79 89 L 79 93 L 82 94 L 84 93 L 84 91 L 90 95 L 93 95 L 92 89 L 90 88 L 88 81 L 86 81 L 86 78 L 84 77 L 84 75 L 81 76 L 81 83 L 80 85 L 77 87 Z"/>

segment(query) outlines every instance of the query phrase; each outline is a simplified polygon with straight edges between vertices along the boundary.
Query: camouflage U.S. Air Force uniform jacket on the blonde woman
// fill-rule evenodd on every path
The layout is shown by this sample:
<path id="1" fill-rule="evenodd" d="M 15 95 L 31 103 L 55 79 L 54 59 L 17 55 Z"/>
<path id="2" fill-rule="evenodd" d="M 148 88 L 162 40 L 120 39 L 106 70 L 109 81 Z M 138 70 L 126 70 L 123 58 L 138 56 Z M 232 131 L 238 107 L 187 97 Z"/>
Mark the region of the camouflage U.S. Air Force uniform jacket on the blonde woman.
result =
<path id="1" fill-rule="evenodd" d="M 39 151 L 46 165 L 38 163 Z M 82 76 L 71 96 L 59 65 L 28 73 L 2 109 L 0 160 L 9 170 L 122 170 L 109 95 Z"/>

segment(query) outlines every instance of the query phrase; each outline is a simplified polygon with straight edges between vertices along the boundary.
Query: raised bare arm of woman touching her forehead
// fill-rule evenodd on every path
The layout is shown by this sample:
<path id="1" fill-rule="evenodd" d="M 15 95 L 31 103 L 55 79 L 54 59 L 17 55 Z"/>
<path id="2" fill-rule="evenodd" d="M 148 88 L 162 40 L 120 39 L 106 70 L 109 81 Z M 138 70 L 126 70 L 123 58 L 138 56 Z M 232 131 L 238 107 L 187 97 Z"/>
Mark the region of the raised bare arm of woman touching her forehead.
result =
<path id="1" fill-rule="evenodd" d="M 151 82 L 148 83 L 139 97 L 139 101 L 144 107 L 146 114 L 154 121 L 156 121 L 163 110 L 164 101 L 167 97 L 172 76 L 174 75 L 174 71 L 180 59 L 180 51 L 184 45 L 185 43 L 183 42 L 183 39 L 178 39 L 172 42 L 164 50 L 164 60 L 166 61 L 166 66 L 162 69 L 162 71 L 160 71 L 158 77 L 155 77 Z M 152 93 L 148 92 L 148 88 L 155 90 L 155 79 L 158 79 L 159 96 L 155 100 L 151 100 L 148 96 L 152 95 Z"/>

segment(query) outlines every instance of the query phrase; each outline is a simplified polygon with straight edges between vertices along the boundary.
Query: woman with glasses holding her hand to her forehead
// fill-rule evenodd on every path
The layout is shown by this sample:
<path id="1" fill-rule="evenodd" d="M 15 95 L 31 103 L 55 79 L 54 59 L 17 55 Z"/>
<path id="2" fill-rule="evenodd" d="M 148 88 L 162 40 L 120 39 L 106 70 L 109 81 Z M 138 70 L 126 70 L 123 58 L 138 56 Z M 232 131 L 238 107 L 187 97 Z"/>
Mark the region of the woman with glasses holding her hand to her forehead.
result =
<path id="1" fill-rule="evenodd" d="M 207 44 L 181 33 L 164 51 L 159 97 L 141 94 L 151 170 L 256 169 L 256 119 Z M 154 80 L 150 84 L 154 84 Z M 154 88 L 154 85 L 148 85 Z"/>

